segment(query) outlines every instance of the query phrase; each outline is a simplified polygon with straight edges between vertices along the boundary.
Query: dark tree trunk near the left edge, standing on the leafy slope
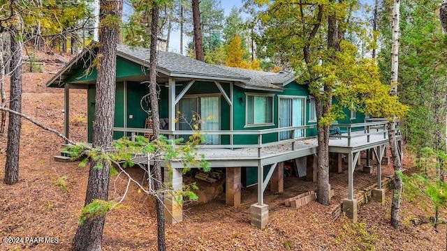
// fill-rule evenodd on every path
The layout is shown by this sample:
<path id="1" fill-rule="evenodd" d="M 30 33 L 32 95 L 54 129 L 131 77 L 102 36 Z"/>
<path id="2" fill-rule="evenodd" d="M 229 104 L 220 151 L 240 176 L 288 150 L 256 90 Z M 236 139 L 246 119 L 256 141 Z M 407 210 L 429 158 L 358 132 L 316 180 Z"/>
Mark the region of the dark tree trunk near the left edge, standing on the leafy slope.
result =
<path id="1" fill-rule="evenodd" d="M 17 15 L 15 13 L 15 15 Z M 22 112 L 22 43 L 20 42 L 20 18 L 15 29 L 10 33 L 11 66 L 9 107 L 15 112 Z M 7 185 L 17 183 L 19 178 L 20 129 L 22 119 L 16 114 L 9 114 L 8 143 L 6 145 L 5 179 Z"/>

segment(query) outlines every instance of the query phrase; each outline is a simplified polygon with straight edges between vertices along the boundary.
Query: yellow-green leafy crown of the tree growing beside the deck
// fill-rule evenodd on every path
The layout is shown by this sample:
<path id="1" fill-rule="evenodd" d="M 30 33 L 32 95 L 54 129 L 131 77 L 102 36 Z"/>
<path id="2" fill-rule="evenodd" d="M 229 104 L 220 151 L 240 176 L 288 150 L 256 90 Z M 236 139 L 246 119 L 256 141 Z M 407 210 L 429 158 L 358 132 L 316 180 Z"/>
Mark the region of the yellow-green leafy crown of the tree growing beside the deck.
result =
<path id="1" fill-rule="evenodd" d="M 339 43 L 339 50 L 327 46 L 328 16 L 342 20 L 346 34 L 364 36 L 365 29 L 355 20 L 345 24 L 358 1 L 307 1 L 291 5 L 286 0 L 255 1 L 267 10 L 258 15 L 258 44 L 265 54 L 286 66 L 292 66 L 298 82 L 309 90 L 323 107 L 317 110 L 318 126 L 328 126 L 341 115 L 343 107 L 372 116 L 402 117 L 406 107 L 388 95 L 389 86 L 380 81 L 379 69 L 370 59 L 359 59 L 358 48 L 349 40 Z M 337 105 L 330 107 L 332 98 Z"/>

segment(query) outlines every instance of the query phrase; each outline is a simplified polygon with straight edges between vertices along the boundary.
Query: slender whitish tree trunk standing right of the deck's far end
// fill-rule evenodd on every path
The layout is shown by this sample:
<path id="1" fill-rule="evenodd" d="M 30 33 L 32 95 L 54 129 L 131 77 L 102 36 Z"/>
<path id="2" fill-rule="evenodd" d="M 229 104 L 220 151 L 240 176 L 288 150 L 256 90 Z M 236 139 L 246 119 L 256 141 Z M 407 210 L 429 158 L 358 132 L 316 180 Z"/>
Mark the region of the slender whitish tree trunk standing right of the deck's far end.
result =
<path id="1" fill-rule="evenodd" d="M 390 95 L 397 96 L 397 82 L 398 82 L 398 70 L 399 70 L 399 37 L 400 37 L 400 0 L 393 1 L 393 47 L 391 50 L 391 89 Z M 398 175 L 402 172 L 402 162 L 397 149 L 396 141 L 396 122 L 395 119 L 388 123 L 388 138 L 390 142 L 391 155 L 393 156 L 393 168 L 394 168 L 394 188 L 393 188 L 393 200 L 391 201 L 391 225 L 394 228 L 398 228 L 400 224 L 400 200 L 402 194 L 402 178 Z"/>

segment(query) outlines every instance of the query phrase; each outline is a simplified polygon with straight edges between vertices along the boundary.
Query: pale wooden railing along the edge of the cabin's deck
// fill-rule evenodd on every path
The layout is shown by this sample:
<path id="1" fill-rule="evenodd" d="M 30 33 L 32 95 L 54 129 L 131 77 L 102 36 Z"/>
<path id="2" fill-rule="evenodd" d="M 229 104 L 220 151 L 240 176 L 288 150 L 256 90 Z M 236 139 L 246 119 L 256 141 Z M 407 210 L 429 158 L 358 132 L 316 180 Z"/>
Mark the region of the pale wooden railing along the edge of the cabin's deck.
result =
<path id="1" fill-rule="evenodd" d="M 333 127 L 346 128 L 346 134 L 342 135 L 330 135 L 331 139 L 347 139 L 348 146 L 351 146 L 351 139 L 358 137 L 367 137 L 367 142 L 371 140 L 371 135 L 383 135 L 383 139 L 388 137 L 387 129 L 388 121 L 383 119 L 379 121 L 365 122 L 365 123 L 352 123 L 352 124 L 335 124 Z M 283 144 L 292 144 L 292 150 L 296 150 L 296 144 L 298 141 L 305 139 L 314 139 L 316 135 L 306 137 L 307 130 L 316 128 L 316 125 L 306 126 L 289 126 L 284 128 L 271 128 L 262 130 L 200 130 L 201 135 L 228 135 L 230 137 L 229 144 L 201 144 L 198 146 L 200 149 L 244 149 L 244 148 L 256 148 L 258 150 L 258 158 L 261 158 L 261 151 L 265 147 L 279 146 Z M 113 129 L 115 132 L 124 132 L 124 135 L 131 133 L 131 136 L 137 134 L 151 134 L 152 129 L 145 128 L 117 128 Z M 300 131 L 302 137 L 295 137 L 295 132 Z M 291 135 L 290 139 L 279 140 L 281 132 L 288 132 Z M 355 132 L 355 133 L 353 133 Z M 360 133 L 359 133 L 360 132 Z M 173 139 L 184 135 L 193 135 L 196 131 L 193 130 L 160 130 L 161 135 L 166 135 L 168 138 Z M 271 135 L 277 133 L 277 140 L 273 142 L 263 143 L 265 135 Z M 257 142 L 253 144 L 234 144 L 234 138 L 237 135 L 256 135 Z"/>

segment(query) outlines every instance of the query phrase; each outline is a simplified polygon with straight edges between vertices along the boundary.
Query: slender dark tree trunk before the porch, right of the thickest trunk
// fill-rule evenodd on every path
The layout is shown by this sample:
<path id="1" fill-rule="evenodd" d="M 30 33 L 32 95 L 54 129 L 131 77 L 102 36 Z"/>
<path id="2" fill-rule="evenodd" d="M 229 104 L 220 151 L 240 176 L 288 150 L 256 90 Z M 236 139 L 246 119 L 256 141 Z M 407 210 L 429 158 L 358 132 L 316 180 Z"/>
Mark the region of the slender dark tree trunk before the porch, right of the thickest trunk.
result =
<path id="1" fill-rule="evenodd" d="M 152 130 L 154 130 L 154 139 L 160 135 L 160 116 L 159 116 L 159 97 L 156 91 L 156 58 L 157 58 L 157 35 L 159 33 L 159 6 L 156 0 L 152 1 L 152 20 L 151 20 L 151 45 L 149 55 L 149 93 L 151 100 Z M 154 162 L 154 189 L 159 192 L 162 188 L 160 162 Z M 163 206 L 163 196 L 156 197 L 156 227 L 157 243 L 159 251 L 166 250 L 165 240 L 165 213 Z"/>

